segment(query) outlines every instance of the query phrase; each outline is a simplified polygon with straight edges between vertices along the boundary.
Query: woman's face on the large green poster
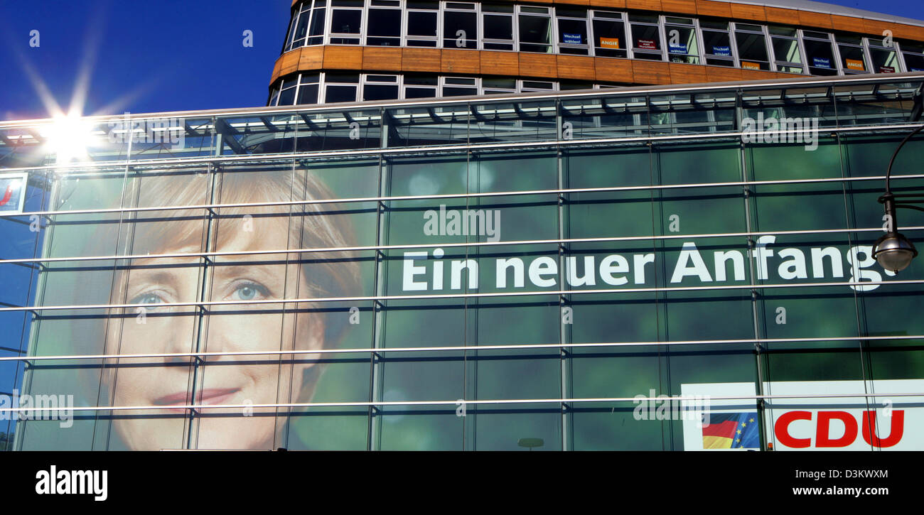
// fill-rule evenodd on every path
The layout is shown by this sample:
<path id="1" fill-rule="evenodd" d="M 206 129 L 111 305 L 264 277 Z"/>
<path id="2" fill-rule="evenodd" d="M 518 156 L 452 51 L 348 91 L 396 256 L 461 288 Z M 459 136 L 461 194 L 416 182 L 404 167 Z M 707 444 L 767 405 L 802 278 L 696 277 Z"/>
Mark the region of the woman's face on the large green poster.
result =
<path id="1" fill-rule="evenodd" d="M 259 222 L 258 222 L 259 220 Z M 218 251 L 286 248 L 286 218 L 224 222 Z M 249 226 L 249 227 L 248 227 Z M 250 228 L 250 231 L 247 229 Z M 172 248 L 158 253 L 197 252 Z M 125 292 L 138 304 L 126 317 L 113 317 L 107 329 L 107 353 L 313 350 L 322 348 L 323 327 L 307 313 L 280 313 L 282 304 L 212 305 L 208 317 L 193 307 L 162 307 L 193 302 L 201 292 L 202 268 L 188 266 L 197 258 L 152 258 L 134 263 Z M 186 265 L 186 266 L 177 266 Z M 286 255 L 221 256 L 206 269 L 206 300 L 249 301 L 310 296 L 298 266 Z M 125 276 L 122 276 L 123 283 Z M 286 305 L 291 311 L 294 305 Z M 134 316 L 134 317 L 132 317 Z M 296 359 L 313 356 L 301 354 Z M 118 434 L 130 449 L 181 449 L 189 429 L 184 404 L 262 404 L 298 401 L 302 377 L 311 363 L 291 364 L 290 356 L 237 355 L 202 357 L 198 366 L 188 357 L 122 358 L 109 379 L 116 406 L 163 406 L 133 410 L 116 419 Z M 255 363 L 260 362 L 260 363 Z M 141 365 L 146 364 L 146 365 Z M 195 391 L 195 399 L 189 391 Z M 201 409 L 192 418 L 189 437 L 195 449 L 274 449 L 283 424 L 272 408 Z"/>

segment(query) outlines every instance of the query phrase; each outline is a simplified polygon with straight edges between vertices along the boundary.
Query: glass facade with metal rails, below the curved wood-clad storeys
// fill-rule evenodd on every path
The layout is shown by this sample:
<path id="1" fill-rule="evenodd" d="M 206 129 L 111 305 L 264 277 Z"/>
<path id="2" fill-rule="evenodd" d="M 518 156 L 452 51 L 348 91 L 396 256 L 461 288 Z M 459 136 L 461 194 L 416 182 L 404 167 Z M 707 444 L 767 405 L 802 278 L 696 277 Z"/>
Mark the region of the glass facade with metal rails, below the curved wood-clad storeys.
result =
<path id="1" fill-rule="evenodd" d="M 924 449 L 924 260 L 870 257 L 922 84 L 93 118 L 64 138 L 85 143 L 74 162 L 51 122 L 2 123 L 0 180 L 23 200 L 0 209 L 0 393 L 73 396 L 73 416 L 0 405 L 0 432 L 15 449 Z M 755 134 L 771 119 L 799 125 Z M 906 145 L 894 191 L 920 187 L 922 155 Z M 899 226 L 920 245 L 915 216 Z M 645 408 L 659 396 L 711 412 Z"/>

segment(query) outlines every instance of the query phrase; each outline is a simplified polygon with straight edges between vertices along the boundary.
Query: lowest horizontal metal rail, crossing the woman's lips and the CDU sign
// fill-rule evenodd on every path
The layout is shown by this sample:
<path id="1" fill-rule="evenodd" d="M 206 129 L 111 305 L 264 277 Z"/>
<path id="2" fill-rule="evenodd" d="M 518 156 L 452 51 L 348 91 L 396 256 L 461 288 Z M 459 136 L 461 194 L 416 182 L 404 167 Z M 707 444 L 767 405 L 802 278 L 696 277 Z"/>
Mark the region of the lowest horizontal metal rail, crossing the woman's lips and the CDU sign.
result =
<path id="1" fill-rule="evenodd" d="M 857 379 L 863 380 L 863 379 Z M 871 379 L 868 379 L 871 380 Z M 902 392 L 902 393 L 805 393 L 805 394 L 785 394 L 785 395 L 722 395 L 709 396 L 709 401 L 750 401 L 755 402 L 764 399 L 772 401 L 774 399 L 882 399 L 893 397 L 924 397 L 924 392 Z M 244 409 L 261 409 L 261 408 L 335 408 L 335 407 L 369 407 L 369 406 L 462 406 L 462 405 L 499 405 L 499 404 L 577 404 L 582 402 L 633 402 L 641 401 L 691 401 L 692 406 L 687 411 L 697 411 L 693 408 L 697 406 L 696 401 L 702 402 L 702 396 L 674 396 L 674 397 L 589 397 L 589 398 L 568 398 L 568 399 L 491 399 L 481 401 L 468 401 L 459 399 L 457 401 L 346 401 L 346 402 L 276 402 L 276 403 L 254 403 L 254 404 L 182 404 L 169 406 L 141 405 L 141 406 L 74 406 L 74 407 L 37 407 L 37 408 L 3 408 L 0 412 L 10 413 L 32 413 L 32 412 L 119 412 L 119 411 L 152 411 L 152 410 L 201 410 L 201 409 L 225 409 L 225 410 L 244 410 Z M 719 406 L 720 408 L 722 406 Z M 772 408 L 772 406 L 771 406 Z M 706 410 L 708 411 L 708 409 Z M 176 413 L 176 416 L 184 416 Z"/>

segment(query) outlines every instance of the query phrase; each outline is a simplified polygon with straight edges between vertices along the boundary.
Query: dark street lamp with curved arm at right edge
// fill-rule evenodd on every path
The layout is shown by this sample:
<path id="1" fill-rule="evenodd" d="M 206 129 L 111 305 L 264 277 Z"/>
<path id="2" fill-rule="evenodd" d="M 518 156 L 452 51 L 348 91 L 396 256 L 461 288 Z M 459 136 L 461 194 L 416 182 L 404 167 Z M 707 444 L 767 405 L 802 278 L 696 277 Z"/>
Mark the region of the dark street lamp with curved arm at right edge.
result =
<path id="1" fill-rule="evenodd" d="M 910 202 L 922 202 L 924 198 L 921 198 L 921 194 L 895 195 L 892 193 L 889 179 L 892 178 L 892 165 L 895 162 L 895 158 L 898 156 L 898 151 L 902 150 L 902 147 L 905 146 L 908 139 L 911 139 L 914 135 L 921 132 L 921 130 L 924 130 L 924 126 L 919 126 L 912 131 L 911 134 L 907 135 L 905 139 L 902 140 L 898 148 L 895 149 L 894 154 L 892 154 L 892 160 L 889 161 L 889 168 L 885 171 L 885 193 L 879 198 L 879 202 L 885 207 L 886 232 L 873 244 L 872 257 L 876 259 L 883 269 L 895 272 L 906 269 L 908 265 L 911 264 L 911 260 L 918 256 L 918 249 L 915 248 L 904 234 L 898 232 L 898 221 L 895 211 L 898 208 L 924 211 L 924 208 L 909 204 Z M 908 203 L 898 204 L 896 203 L 896 199 Z"/>

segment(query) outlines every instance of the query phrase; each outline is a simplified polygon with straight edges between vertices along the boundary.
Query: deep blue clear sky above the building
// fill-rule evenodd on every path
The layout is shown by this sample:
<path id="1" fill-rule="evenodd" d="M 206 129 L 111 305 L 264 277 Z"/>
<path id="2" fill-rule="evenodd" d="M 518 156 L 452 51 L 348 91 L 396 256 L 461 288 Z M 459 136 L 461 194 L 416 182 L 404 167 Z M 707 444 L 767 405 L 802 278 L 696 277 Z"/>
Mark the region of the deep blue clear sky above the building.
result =
<path id="1" fill-rule="evenodd" d="M 830 3 L 924 19 L 922 0 Z M 47 116 L 31 77 L 67 106 L 88 69 L 84 114 L 263 105 L 289 0 L 0 0 L 0 119 Z M 30 30 L 41 46 L 30 47 Z M 252 30 L 254 46 L 242 44 Z M 65 109 L 67 111 L 67 109 Z"/>

